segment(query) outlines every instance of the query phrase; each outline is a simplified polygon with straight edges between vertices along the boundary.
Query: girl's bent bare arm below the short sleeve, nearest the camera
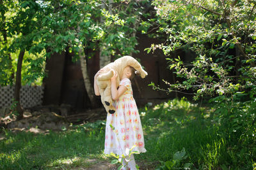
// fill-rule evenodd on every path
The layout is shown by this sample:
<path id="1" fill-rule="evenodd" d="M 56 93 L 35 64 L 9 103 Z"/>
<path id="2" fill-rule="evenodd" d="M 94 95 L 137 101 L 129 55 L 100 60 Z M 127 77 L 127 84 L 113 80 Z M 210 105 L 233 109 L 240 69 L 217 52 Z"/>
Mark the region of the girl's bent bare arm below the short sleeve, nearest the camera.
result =
<path id="1" fill-rule="evenodd" d="M 122 94 L 124 94 L 124 92 L 126 90 L 128 90 L 127 87 L 125 87 L 124 85 L 121 85 L 117 89 L 117 87 L 116 87 L 116 77 L 117 77 L 117 74 L 114 73 L 114 76 L 111 78 L 111 95 L 112 95 L 112 99 L 114 101 L 119 99 L 119 97 L 122 96 Z"/>

